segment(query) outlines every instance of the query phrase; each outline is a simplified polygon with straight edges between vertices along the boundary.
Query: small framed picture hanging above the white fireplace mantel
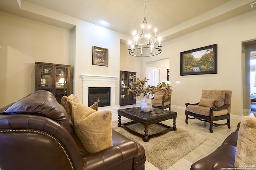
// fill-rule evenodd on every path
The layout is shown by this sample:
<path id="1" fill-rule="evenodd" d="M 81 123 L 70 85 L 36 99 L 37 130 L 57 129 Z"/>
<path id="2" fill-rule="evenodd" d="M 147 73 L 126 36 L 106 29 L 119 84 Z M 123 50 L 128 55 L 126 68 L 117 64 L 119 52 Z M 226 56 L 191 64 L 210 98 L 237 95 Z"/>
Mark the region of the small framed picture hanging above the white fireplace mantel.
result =
<path id="1" fill-rule="evenodd" d="M 108 66 L 108 49 L 92 46 L 92 64 Z"/>

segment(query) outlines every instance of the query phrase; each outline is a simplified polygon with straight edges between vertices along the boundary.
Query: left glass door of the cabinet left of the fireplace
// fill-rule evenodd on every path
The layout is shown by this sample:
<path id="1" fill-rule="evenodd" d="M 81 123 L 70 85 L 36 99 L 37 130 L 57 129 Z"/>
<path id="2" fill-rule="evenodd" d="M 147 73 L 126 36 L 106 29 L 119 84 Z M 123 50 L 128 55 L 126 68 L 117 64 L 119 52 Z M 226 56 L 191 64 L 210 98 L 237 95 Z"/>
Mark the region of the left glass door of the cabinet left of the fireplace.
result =
<path id="1" fill-rule="evenodd" d="M 53 92 L 53 66 L 39 65 L 38 89 Z"/>

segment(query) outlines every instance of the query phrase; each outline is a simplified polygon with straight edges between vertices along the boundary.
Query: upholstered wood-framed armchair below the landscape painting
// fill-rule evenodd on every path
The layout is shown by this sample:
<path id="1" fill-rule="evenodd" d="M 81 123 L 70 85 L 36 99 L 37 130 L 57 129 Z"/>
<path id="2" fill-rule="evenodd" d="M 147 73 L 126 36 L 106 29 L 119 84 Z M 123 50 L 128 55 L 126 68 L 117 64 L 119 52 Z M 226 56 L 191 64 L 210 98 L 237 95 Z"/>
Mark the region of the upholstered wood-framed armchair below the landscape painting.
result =
<path id="1" fill-rule="evenodd" d="M 230 129 L 231 94 L 230 90 L 202 90 L 200 102 L 186 103 L 185 122 L 188 123 L 188 119 L 209 122 L 210 133 L 213 132 L 213 126 L 228 125 Z M 224 119 L 226 123 L 213 123 Z"/>

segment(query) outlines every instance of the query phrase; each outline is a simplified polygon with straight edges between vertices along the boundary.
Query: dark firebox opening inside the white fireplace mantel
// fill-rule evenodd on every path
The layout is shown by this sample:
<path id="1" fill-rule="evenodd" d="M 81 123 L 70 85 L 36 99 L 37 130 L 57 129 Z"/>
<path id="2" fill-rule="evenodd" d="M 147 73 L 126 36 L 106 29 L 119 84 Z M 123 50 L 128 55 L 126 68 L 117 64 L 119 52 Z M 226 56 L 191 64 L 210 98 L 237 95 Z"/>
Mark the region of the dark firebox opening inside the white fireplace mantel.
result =
<path id="1" fill-rule="evenodd" d="M 99 107 L 110 106 L 110 87 L 89 87 L 88 106 L 96 102 Z"/>

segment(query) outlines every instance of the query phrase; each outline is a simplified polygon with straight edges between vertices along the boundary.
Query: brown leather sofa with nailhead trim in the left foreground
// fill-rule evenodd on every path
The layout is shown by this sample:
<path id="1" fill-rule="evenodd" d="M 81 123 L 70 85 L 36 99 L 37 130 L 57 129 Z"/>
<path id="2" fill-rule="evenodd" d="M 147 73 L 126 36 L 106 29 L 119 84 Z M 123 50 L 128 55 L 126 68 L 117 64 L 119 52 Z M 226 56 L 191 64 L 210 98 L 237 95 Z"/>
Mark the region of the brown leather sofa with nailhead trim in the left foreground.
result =
<path id="1" fill-rule="evenodd" d="M 0 109 L 1 170 L 144 170 L 144 148 L 112 131 L 113 147 L 88 154 L 55 97 L 36 91 Z"/>

